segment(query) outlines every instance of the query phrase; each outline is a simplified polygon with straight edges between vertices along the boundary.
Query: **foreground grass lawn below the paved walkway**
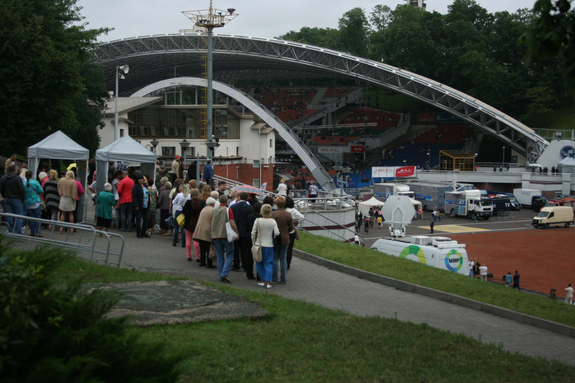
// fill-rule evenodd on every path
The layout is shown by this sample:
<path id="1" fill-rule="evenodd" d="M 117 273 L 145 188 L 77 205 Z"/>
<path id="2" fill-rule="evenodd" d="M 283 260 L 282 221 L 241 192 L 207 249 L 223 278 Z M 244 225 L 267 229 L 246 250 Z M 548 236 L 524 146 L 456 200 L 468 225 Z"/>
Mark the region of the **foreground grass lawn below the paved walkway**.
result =
<path id="1" fill-rule="evenodd" d="M 65 282 L 77 276 L 86 282 L 174 278 L 85 261 L 64 265 L 57 278 Z M 559 362 L 511 354 L 425 324 L 363 318 L 266 291 L 209 285 L 244 296 L 272 316 L 133 328 L 144 340 L 165 342 L 187 355 L 182 382 L 575 380 L 575 370 Z"/>

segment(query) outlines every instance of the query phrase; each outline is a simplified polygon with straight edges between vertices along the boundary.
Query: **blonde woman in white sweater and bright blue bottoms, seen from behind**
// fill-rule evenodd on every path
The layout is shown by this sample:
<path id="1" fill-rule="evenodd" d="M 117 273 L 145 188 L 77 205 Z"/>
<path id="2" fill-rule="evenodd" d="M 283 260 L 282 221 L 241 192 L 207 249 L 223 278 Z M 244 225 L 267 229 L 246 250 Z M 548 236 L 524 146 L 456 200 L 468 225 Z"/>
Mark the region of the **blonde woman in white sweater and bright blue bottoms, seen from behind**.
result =
<path id="1" fill-rule="evenodd" d="M 261 287 L 267 285 L 267 288 L 271 289 L 271 274 L 274 264 L 273 237 L 279 235 L 279 229 L 275 219 L 271 218 L 271 206 L 269 204 L 266 203 L 262 206 L 260 214 L 262 214 L 262 218 L 255 220 L 252 229 L 252 243 L 262 246 L 262 262 L 255 262 L 255 269 L 262 279 L 262 282 L 258 283 L 258 285 Z"/>

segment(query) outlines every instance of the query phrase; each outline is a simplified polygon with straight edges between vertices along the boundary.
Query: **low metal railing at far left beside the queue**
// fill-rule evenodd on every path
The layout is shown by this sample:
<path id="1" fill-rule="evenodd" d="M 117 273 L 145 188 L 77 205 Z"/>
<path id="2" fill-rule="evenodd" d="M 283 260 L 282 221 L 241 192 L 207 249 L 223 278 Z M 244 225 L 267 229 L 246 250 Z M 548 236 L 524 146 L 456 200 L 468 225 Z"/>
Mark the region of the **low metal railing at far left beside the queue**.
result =
<path id="1" fill-rule="evenodd" d="M 50 245 L 67 247 L 68 249 L 81 250 L 83 252 L 87 252 L 89 253 L 90 256 L 89 258 L 90 262 L 93 260 L 94 254 L 104 254 L 103 258 L 98 258 L 97 260 L 94 260 L 94 262 L 97 263 L 98 261 L 104 261 L 105 265 L 117 265 L 118 267 L 120 267 L 120 263 L 122 262 L 122 253 L 124 252 L 124 237 L 122 237 L 120 234 L 108 233 L 107 231 L 96 230 L 94 229 L 94 227 L 88 225 L 79 225 L 78 223 L 68 223 L 49 219 L 33 218 L 25 215 L 0 212 L 0 216 L 5 218 L 11 218 L 14 220 L 12 231 L 8 230 L 8 228 L 6 227 L 6 229 L 2 231 L 2 234 L 5 235 L 5 237 L 16 238 L 19 239 L 20 241 L 30 241 L 30 244 L 28 246 L 29 250 L 32 249 L 33 242 L 48 243 Z M 22 234 L 16 233 L 16 225 L 14 225 L 16 223 L 16 220 L 24 221 L 22 222 L 22 224 L 28 222 L 26 228 L 25 229 L 23 228 L 24 230 L 22 230 Z M 44 232 L 45 231 L 51 232 L 49 238 L 47 236 L 33 237 L 32 235 L 29 235 L 28 234 L 28 230 L 30 229 L 29 222 L 38 222 L 40 225 L 43 223 L 47 225 L 53 225 L 53 230 L 44 229 Z M 7 226 L 7 221 L 0 222 L 0 226 Z M 64 229 L 74 229 L 78 233 L 78 235 L 72 236 L 70 230 L 66 230 L 63 231 L 62 233 L 62 235 L 65 234 L 65 237 L 54 238 L 54 233 L 55 231 L 57 231 L 56 227 L 63 227 Z M 106 241 L 103 249 L 95 246 L 96 239 L 99 236 L 105 238 Z M 110 251 L 110 247 L 112 247 L 112 241 L 110 239 L 112 237 L 120 238 L 121 243 L 120 243 L 120 250 L 118 252 Z M 70 242 L 72 238 L 78 239 L 78 242 Z M 86 240 L 84 243 L 82 243 L 83 239 Z M 109 261 L 110 255 L 116 256 L 117 262 Z"/>

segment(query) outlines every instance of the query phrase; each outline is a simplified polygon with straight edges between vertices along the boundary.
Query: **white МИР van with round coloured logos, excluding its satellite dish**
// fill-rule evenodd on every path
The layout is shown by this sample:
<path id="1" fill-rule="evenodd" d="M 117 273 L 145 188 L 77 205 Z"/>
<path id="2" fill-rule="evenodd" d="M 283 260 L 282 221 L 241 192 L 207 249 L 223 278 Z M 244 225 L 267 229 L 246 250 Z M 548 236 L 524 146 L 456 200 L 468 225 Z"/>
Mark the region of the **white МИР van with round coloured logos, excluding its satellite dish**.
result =
<path id="1" fill-rule="evenodd" d="M 469 274 L 465 244 L 447 237 L 381 238 L 371 249 L 454 273 Z"/>

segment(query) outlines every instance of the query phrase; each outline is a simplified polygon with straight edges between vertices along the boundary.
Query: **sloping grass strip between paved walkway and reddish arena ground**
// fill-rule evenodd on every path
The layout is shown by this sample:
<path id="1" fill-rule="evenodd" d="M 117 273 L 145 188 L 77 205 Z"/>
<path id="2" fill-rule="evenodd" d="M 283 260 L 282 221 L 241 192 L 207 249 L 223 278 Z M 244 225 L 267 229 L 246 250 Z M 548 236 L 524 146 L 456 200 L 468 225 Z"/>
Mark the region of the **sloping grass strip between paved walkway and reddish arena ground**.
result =
<path id="1" fill-rule="evenodd" d="M 297 249 L 344 265 L 575 326 L 573 305 L 522 293 L 502 285 L 484 283 L 476 278 L 388 256 L 377 250 L 319 235 L 302 233 L 301 238 L 300 241 L 296 241 Z"/>

